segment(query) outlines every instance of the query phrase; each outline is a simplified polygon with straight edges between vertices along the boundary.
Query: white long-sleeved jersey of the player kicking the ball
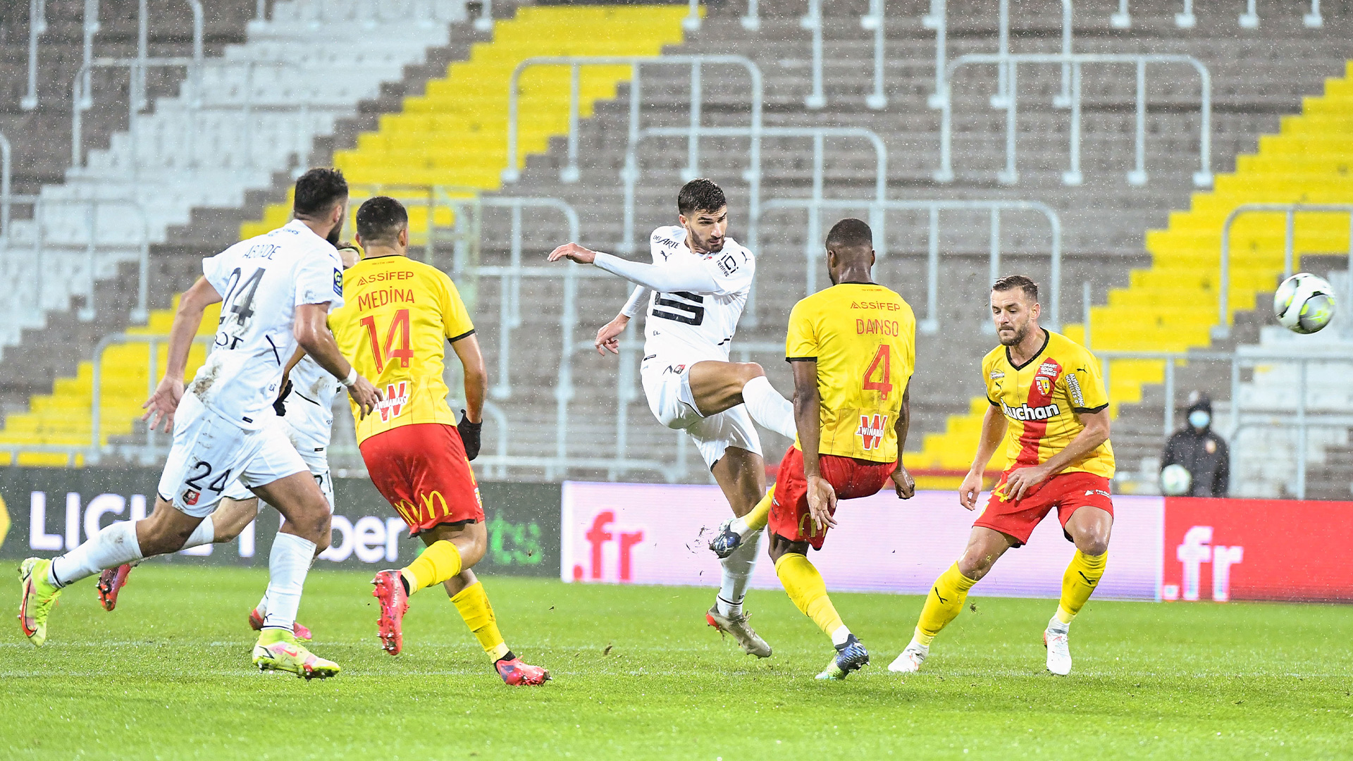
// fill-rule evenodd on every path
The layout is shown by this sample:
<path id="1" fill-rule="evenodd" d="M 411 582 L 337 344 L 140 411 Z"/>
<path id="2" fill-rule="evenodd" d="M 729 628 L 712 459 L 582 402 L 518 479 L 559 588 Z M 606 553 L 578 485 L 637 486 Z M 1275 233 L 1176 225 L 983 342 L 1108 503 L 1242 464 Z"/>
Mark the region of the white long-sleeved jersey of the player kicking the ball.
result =
<path id="1" fill-rule="evenodd" d="M 686 245 L 686 229 L 681 225 L 658 227 L 649 241 L 653 264 L 679 269 L 704 268 L 717 290 L 709 294 L 655 292 L 644 324 L 644 355 L 687 362 L 728 360 L 756 272 L 752 252 L 725 237 L 721 251 L 694 253 Z"/>

